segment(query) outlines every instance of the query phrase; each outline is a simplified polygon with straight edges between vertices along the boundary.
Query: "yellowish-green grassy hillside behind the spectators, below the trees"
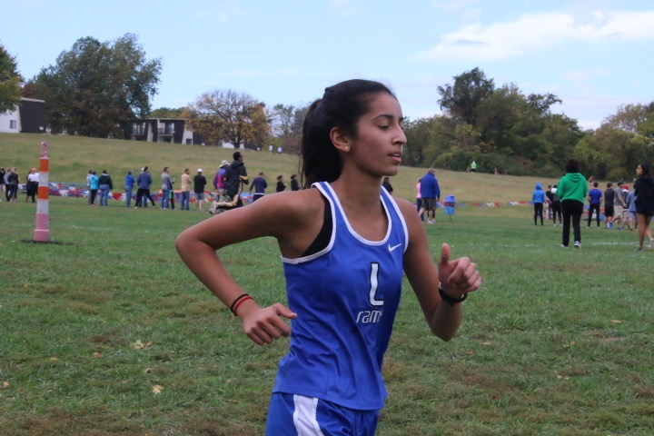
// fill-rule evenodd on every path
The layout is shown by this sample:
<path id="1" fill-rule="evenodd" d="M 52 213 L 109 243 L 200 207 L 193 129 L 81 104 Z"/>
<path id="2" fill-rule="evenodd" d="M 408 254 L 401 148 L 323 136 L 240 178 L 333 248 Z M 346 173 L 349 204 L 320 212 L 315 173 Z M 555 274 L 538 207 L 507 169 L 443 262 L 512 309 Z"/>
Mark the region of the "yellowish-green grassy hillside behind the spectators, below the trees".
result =
<path id="1" fill-rule="evenodd" d="M 62 183 L 85 183 L 88 170 L 98 173 L 106 169 L 119 187 L 127 170 L 138 173 L 144 165 L 150 166 L 154 175 L 163 166 L 169 166 L 174 176 L 183 168 L 191 173 L 203 168 L 205 175 L 213 176 L 219 163 L 232 161 L 233 149 L 203 147 L 200 145 L 159 144 L 136 141 L 86 138 L 79 136 L 43 134 L 0 134 L 0 166 L 15 166 L 24 181 L 27 170 L 39 166 L 39 144 L 46 141 L 49 148 L 50 181 Z M 291 154 L 270 154 L 267 151 L 242 151 L 248 173 L 253 176 L 260 171 L 267 174 L 272 184 L 278 174 L 288 180 L 298 172 L 298 159 Z M 406 199 L 414 199 L 415 184 L 425 168 L 401 167 L 400 173 L 391 178 L 394 193 Z M 561 174 L 563 170 L 561 169 Z M 453 194 L 459 203 L 505 203 L 530 200 L 535 183 L 557 183 L 554 179 L 516 177 L 485 173 L 460 173 L 437 170 L 442 195 Z M 207 177 L 208 178 L 208 177 Z"/>

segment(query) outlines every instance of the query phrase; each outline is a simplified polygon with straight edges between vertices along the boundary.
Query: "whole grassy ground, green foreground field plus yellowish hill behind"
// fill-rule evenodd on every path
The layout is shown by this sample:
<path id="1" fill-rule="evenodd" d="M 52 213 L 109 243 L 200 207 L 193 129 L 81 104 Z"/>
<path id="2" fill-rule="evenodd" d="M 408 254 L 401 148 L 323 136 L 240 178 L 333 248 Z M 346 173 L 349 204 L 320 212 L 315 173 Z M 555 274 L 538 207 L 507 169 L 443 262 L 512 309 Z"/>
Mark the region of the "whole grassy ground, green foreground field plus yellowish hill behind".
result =
<path id="1" fill-rule="evenodd" d="M 0 164 L 35 166 L 43 136 L 8 136 L 0 135 Z M 77 183 L 87 168 L 211 167 L 230 154 L 48 140 L 51 180 Z M 16 151 L 23 146 L 34 147 L 36 158 Z M 290 156 L 245 158 L 250 173 L 294 170 Z M 393 178 L 396 192 L 412 198 L 423 172 L 403 168 Z M 462 203 L 527 200 L 538 180 L 437 175 Z M 208 213 L 118 202 L 90 208 L 84 199 L 54 197 L 57 243 L 36 244 L 29 242 L 35 207 L 21 200 L 0 203 L 0 434 L 263 433 L 287 342 L 250 342 L 177 257 L 176 235 Z M 530 215 L 529 206 L 464 206 L 427 227 L 432 253 L 451 243 L 454 256 L 478 263 L 484 284 L 447 343 L 431 336 L 405 285 L 384 363 L 390 395 L 379 435 L 651 434 L 654 251 L 634 252 L 633 232 L 585 227 L 583 248 L 564 250 L 560 227 L 534 226 Z M 273 240 L 222 256 L 258 302 L 285 301 Z"/>

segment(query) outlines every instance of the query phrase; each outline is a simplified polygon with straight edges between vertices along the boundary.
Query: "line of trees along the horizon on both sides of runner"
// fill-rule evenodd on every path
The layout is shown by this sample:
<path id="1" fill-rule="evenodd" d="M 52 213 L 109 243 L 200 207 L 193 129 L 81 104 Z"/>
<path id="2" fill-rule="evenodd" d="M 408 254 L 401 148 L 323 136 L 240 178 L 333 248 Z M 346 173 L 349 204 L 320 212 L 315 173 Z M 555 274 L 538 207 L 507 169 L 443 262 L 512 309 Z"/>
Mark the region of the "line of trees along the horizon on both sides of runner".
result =
<path id="1" fill-rule="evenodd" d="M 217 89 L 185 107 L 153 111 L 161 72 L 161 59 L 147 59 L 136 35 L 109 42 L 85 37 L 23 84 L 15 57 L 0 45 L 0 112 L 25 96 L 45 100 L 54 133 L 131 139 L 135 122 L 175 117 L 187 120 L 204 144 L 299 152 L 307 106 L 269 107 L 250 94 Z M 562 103 L 557 95 L 496 86 L 480 68 L 452 77 L 438 93 L 441 114 L 405 123 L 404 164 L 463 171 L 474 160 L 481 172 L 558 176 L 575 158 L 583 173 L 613 180 L 629 179 L 641 161 L 654 162 L 654 102 L 622 105 L 598 129 L 583 130 L 552 113 Z"/>

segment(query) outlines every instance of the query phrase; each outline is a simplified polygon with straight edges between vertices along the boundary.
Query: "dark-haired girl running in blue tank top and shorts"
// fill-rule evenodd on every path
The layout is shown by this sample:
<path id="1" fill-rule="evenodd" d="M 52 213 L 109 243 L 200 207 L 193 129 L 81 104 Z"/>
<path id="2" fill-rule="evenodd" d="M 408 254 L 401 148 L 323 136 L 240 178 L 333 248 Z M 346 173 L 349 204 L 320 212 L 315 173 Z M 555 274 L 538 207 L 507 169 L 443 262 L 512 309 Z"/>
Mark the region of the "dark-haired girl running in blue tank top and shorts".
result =
<path id="1" fill-rule="evenodd" d="M 183 262 L 253 342 L 291 336 L 272 388 L 267 435 L 375 434 L 403 275 L 431 332 L 444 341 L 461 324 L 461 302 L 481 286 L 476 265 L 467 257 L 451 260 L 447 243 L 434 263 L 413 204 L 381 187 L 400 169 L 403 121 L 384 84 L 328 87 L 302 127 L 301 180 L 308 189 L 265 195 L 177 237 Z M 260 237 L 279 245 L 288 306 L 260 306 L 221 262 L 223 247 Z"/>

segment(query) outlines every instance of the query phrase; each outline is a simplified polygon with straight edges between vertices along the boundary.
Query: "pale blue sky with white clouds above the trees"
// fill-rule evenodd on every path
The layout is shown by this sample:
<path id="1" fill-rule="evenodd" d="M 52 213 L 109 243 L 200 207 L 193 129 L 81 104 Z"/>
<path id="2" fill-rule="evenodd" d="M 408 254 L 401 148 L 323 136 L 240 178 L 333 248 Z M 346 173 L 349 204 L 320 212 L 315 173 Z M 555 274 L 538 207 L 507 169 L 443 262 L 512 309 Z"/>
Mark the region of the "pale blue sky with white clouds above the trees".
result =
<path id="1" fill-rule="evenodd" d="M 87 36 L 134 34 L 162 74 L 153 109 L 233 90 L 302 106 L 352 78 L 388 84 L 404 116 L 441 114 L 438 86 L 478 67 L 555 94 L 584 129 L 654 102 L 651 0 L 0 0 L 0 44 L 34 78 Z"/>

